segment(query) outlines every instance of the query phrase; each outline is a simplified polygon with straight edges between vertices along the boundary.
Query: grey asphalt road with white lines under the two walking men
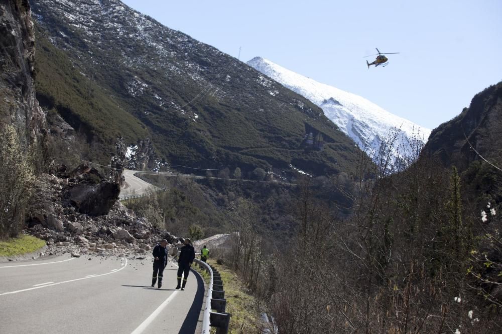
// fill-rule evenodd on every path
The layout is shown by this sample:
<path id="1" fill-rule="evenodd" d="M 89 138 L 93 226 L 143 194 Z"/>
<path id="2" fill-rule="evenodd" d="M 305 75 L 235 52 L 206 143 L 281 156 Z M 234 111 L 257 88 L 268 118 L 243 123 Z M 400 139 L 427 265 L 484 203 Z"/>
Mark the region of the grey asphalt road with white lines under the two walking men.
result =
<path id="1" fill-rule="evenodd" d="M 147 258 L 0 263 L 0 333 L 200 333 L 202 278 L 192 270 L 175 290 L 170 262 L 162 288 L 152 288 Z"/>

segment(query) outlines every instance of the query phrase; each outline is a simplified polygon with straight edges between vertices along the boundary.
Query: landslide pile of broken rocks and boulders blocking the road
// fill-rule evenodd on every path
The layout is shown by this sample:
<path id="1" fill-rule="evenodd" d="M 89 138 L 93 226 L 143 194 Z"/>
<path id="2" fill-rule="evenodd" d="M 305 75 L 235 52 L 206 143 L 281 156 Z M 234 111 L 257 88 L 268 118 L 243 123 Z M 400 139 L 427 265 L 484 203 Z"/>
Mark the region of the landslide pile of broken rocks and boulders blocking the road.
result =
<path id="1" fill-rule="evenodd" d="M 48 254 L 103 254 L 136 257 L 149 253 L 165 238 L 171 247 L 183 238 L 159 230 L 118 200 L 118 191 L 100 191 L 112 184 L 98 171 L 79 166 L 58 176 L 44 174 L 36 189 L 27 229 L 46 240 Z M 118 185 L 116 185 L 118 187 Z M 111 203 L 111 205 L 110 205 Z M 109 207 L 109 208 L 108 208 Z"/>

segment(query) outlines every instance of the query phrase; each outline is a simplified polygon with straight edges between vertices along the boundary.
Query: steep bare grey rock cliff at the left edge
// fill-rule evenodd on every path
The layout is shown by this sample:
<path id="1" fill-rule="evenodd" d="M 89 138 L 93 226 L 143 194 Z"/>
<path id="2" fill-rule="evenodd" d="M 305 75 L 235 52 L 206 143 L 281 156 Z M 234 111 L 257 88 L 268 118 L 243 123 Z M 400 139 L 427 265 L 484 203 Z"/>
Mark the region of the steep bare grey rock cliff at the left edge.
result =
<path id="1" fill-rule="evenodd" d="M 28 0 L 0 1 L 0 124 L 14 124 L 24 144 L 40 142 L 45 114 L 35 97 L 35 37 Z"/>

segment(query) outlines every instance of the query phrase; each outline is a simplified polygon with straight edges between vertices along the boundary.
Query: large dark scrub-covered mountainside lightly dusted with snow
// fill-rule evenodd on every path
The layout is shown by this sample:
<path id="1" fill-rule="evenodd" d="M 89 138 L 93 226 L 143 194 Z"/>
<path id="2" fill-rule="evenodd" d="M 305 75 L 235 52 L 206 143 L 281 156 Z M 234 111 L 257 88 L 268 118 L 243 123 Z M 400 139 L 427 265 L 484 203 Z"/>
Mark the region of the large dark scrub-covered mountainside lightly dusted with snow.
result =
<path id="1" fill-rule="evenodd" d="M 33 12 L 47 40 L 148 130 L 170 165 L 325 175 L 357 161 L 360 151 L 310 101 L 118 0 L 37 0 Z M 309 133 L 322 135 L 323 150 L 302 146 Z"/>

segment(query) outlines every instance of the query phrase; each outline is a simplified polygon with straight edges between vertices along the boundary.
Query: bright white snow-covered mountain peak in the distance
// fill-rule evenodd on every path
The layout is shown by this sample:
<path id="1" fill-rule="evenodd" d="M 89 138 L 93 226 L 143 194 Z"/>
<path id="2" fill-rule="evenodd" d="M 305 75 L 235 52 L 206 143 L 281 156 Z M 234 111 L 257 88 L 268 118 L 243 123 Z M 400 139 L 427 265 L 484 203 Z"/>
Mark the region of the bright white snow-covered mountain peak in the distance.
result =
<path id="1" fill-rule="evenodd" d="M 431 133 L 430 129 L 391 114 L 360 96 L 304 77 L 268 59 L 255 57 L 247 64 L 321 107 L 340 130 L 367 151 L 378 152 L 392 129 L 401 129 L 403 133 L 403 139 L 394 145 L 396 157 L 401 155 L 398 146 L 402 151 L 403 145 L 408 148 L 412 137 L 426 141 Z"/>

